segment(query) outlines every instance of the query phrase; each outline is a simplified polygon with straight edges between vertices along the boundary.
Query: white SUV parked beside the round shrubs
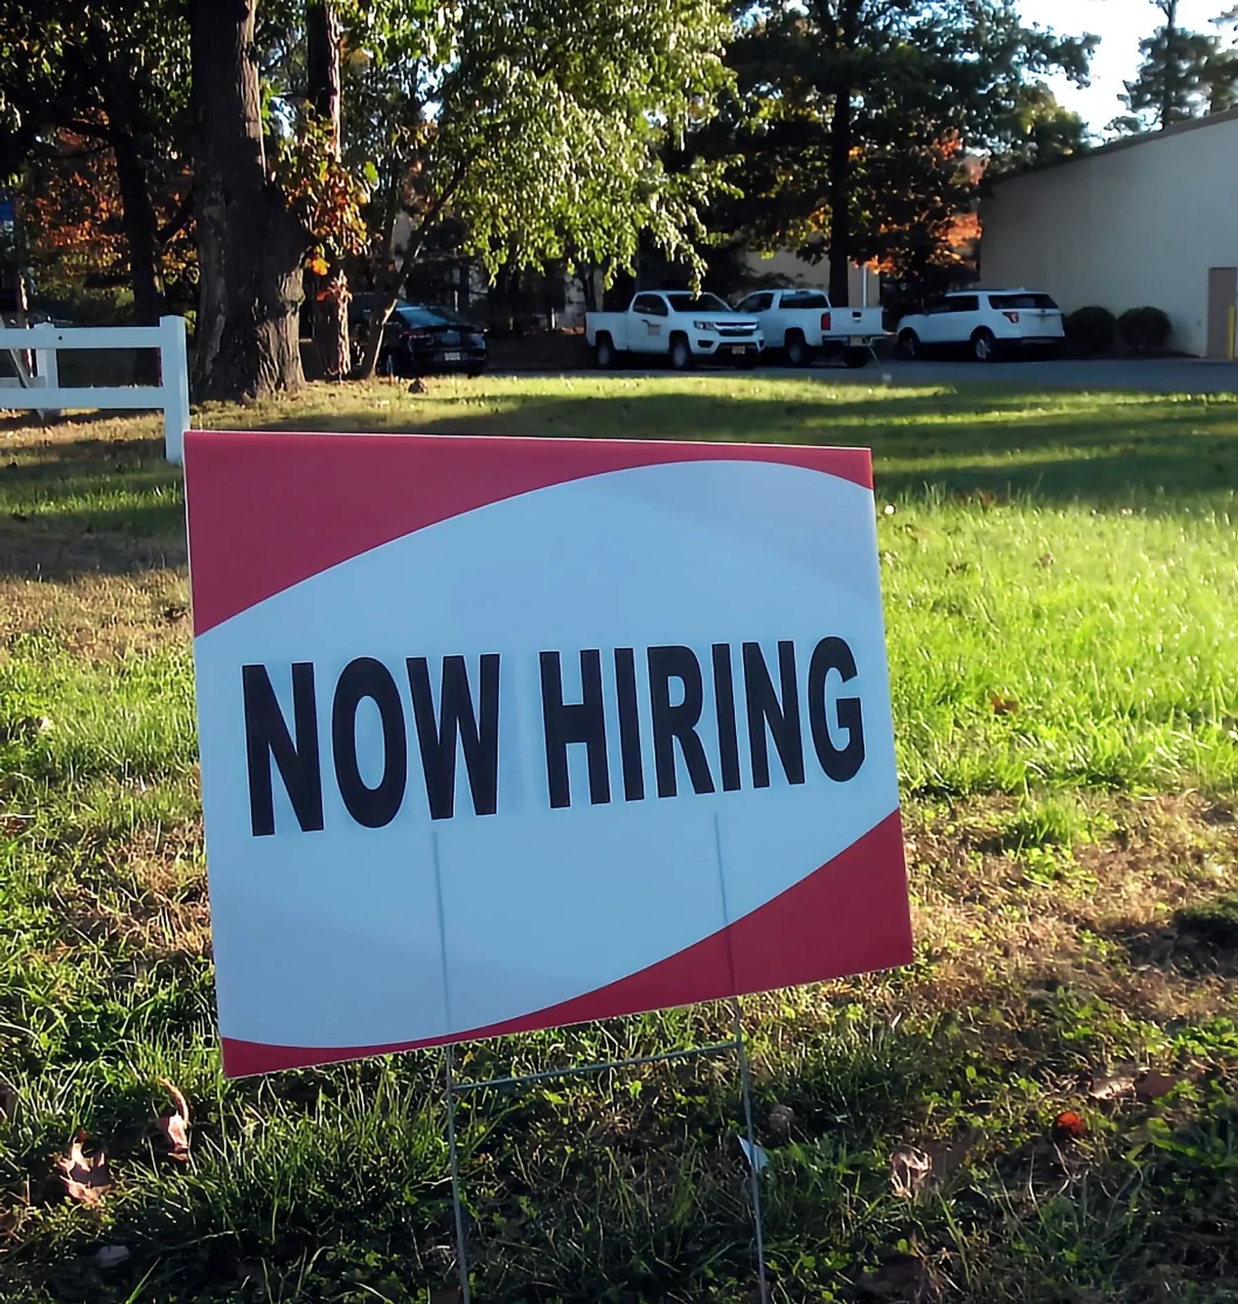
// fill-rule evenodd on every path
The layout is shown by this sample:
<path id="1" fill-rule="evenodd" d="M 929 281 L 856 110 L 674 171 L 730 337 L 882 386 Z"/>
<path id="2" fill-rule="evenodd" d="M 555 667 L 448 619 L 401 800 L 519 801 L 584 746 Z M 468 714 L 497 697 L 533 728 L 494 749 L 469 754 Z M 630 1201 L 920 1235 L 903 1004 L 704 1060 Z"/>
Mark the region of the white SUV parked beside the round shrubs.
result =
<path id="1" fill-rule="evenodd" d="M 1062 342 L 1062 309 L 1038 289 L 964 289 L 939 295 L 922 313 L 899 322 L 904 357 L 967 348 L 980 363 L 1014 349 L 1054 349 Z"/>

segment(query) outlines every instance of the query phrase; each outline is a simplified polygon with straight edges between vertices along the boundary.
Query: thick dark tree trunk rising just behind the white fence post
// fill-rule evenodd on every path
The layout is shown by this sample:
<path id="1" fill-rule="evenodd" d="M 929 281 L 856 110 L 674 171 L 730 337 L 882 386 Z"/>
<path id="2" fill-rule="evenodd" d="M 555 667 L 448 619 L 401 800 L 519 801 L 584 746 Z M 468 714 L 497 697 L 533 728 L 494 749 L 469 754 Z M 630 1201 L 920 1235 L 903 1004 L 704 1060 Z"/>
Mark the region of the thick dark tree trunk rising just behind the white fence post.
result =
<path id="1" fill-rule="evenodd" d="M 190 5 L 200 398 L 256 399 L 304 383 L 297 314 L 309 237 L 266 171 L 254 4 Z"/>

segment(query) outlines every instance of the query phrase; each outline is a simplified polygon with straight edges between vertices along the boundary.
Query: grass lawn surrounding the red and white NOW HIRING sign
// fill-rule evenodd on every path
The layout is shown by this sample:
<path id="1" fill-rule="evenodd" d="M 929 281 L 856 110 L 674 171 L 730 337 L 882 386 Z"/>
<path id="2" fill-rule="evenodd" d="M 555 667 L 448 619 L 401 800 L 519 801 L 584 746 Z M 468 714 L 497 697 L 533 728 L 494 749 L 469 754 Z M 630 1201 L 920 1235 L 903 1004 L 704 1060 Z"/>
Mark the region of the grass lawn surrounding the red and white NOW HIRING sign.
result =
<path id="1" fill-rule="evenodd" d="M 200 424 L 871 446 L 917 961 L 746 1004 L 775 1297 L 1238 1301 L 1238 398 L 620 374 Z M 219 1074 L 184 562 L 157 420 L 0 422 L 0 1299 L 455 1304 L 438 1056 Z M 476 1297 L 751 1304 L 741 1118 L 725 1060 L 471 1099 Z"/>

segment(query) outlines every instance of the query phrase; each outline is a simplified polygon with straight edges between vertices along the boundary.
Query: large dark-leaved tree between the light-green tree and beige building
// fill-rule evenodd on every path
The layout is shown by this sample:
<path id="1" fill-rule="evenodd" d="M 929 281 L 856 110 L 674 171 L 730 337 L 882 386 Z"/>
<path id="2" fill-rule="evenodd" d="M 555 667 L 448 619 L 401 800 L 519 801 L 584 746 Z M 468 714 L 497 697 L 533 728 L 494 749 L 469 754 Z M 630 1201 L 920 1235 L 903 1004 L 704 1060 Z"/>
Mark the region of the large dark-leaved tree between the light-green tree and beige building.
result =
<path id="1" fill-rule="evenodd" d="M 1028 29 L 1004 0 L 763 0 L 731 48 L 738 94 L 702 149 L 737 154 L 732 224 L 762 248 L 827 249 L 914 275 L 948 259 L 977 159 L 1083 141 L 1038 74 L 1085 78 L 1095 38 Z"/>

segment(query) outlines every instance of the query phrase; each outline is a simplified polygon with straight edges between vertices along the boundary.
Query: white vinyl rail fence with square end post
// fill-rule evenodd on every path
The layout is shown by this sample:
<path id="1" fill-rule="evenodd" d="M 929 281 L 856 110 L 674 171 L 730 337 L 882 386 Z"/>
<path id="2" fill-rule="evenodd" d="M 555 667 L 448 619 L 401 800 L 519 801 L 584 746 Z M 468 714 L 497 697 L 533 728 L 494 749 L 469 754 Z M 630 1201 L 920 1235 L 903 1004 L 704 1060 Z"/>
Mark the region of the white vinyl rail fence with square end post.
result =
<path id="1" fill-rule="evenodd" d="M 158 385 L 80 385 L 64 387 L 56 355 L 68 348 L 158 348 Z M 13 359 L 16 376 L 0 377 L 0 409 L 160 408 L 168 462 L 184 460 L 189 429 L 189 364 L 185 318 L 160 317 L 158 326 L 0 326 L 0 351 Z M 25 356 L 34 355 L 33 372 Z"/>

